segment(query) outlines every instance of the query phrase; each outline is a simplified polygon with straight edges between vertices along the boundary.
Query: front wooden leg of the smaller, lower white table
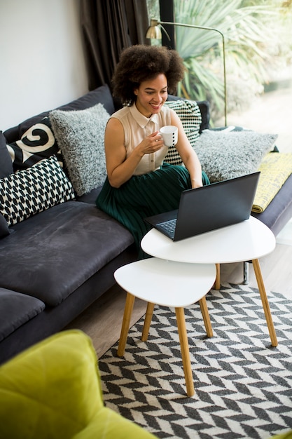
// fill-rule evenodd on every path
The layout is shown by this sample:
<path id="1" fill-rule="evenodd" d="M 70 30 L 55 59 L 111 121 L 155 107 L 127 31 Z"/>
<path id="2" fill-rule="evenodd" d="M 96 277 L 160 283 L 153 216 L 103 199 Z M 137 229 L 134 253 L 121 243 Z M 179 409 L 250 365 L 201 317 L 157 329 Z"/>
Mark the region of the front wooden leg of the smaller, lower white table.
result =
<path id="1" fill-rule="evenodd" d="M 193 396 L 195 393 L 193 372 L 190 365 L 190 349 L 188 347 L 188 335 L 186 333 L 186 320 L 183 308 L 176 308 L 176 322 L 179 331 L 179 343 L 181 344 L 181 358 L 183 360 L 183 372 L 186 379 L 186 393 Z"/>

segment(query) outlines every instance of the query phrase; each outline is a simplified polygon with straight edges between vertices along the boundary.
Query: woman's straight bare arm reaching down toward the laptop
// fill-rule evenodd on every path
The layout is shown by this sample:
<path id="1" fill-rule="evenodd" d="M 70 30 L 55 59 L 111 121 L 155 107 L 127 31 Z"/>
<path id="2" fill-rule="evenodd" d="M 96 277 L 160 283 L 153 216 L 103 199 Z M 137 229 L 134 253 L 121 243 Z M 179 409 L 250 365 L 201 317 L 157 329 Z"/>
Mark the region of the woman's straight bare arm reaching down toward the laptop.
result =
<path id="1" fill-rule="evenodd" d="M 202 184 L 202 168 L 197 157 L 197 154 L 193 150 L 188 137 L 186 137 L 186 133 L 183 130 L 183 125 L 181 123 L 181 119 L 174 112 L 174 110 L 170 109 L 170 120 L 172 125 L 175 125 L 179 128 L 178 142 L 176 144 L 176 149 L 181 156 L 181 160 L 186 166 L 188 172 L 190 173 L 190 181 L 192 187 L 201 187 Z"/>

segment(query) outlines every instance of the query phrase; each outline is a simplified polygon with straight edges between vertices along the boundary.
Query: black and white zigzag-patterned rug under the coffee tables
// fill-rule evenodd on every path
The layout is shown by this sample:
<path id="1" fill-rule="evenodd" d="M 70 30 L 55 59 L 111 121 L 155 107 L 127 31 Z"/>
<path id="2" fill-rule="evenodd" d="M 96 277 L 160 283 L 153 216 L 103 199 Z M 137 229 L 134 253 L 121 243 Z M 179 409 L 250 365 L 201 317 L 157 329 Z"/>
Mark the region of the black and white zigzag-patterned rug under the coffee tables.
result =
<path id="1" fill-rule="evenodd" d="M 99 359 L 104 402 L 158 438 L 267 439 L 292 428 L 292 302 L 267 292 L 279 345 L 272 348 L 258 290 L 225 283 L 207 304 L 185 309 L 195 396 L 186 396 L 174 309 L 155 306 L 148 342 L 144 318 L 129 332 L 125 356 Z M 139 438 L 137 438 L 139 439 Z"/>

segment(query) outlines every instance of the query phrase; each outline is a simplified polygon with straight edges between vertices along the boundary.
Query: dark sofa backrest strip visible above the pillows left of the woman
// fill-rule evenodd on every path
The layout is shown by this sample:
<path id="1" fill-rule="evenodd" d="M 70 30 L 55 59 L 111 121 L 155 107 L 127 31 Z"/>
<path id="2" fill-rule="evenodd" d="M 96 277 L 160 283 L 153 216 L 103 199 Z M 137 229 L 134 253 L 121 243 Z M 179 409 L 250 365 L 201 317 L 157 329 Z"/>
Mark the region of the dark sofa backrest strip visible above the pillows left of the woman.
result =
<path id="1" fill-rule="evenodd" d="M 93 105 L 98 104 L 99 102 L 104 105 L 104 108 L 109 114 L 112 114 L 114 112 L 115 108 L 113 105 L 113 97 L 111 96 L 111 90 L 109 89 L 109 86 L 104 85 L 98 87 L 95 90 L 92 90 L 85 95 L 79 97 L 78 99 L 69 102 L 69 104 L 57 107 L 57 109 L 61 109 L 63 111 L 80 110 L 93 107 Z M 9 128 L 8 130 L 4 131 L 6 141 L 8 143 L 11 143 L 19 140 L 22 137 L 23 133 L 25 133 L 25 131 L 31 128 L 35 123 L 39 123 L 46 116 L 48 117 L 50 111 L 51 110 L 47 110 L 46 112 L 30 117 L 29 119 L 26 119 L 25 121 L 20 123 L 18 126 Z"/>

